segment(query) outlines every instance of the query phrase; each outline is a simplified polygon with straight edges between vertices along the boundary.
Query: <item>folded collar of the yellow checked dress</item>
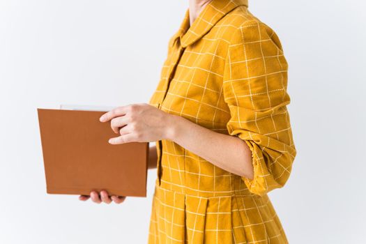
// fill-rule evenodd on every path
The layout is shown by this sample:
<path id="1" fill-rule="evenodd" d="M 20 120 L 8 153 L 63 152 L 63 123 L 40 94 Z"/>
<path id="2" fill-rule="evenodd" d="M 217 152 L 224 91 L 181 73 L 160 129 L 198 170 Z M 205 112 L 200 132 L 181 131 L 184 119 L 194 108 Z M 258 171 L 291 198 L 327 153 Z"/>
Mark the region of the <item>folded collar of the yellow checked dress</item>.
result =
<path id="1" fill-rule="evenodd" d="M 195 43 L 204 36 L 222 18 L 237 6 L 248 6 L 248 0 L 212 0 L 204 10 L 199 13 L 195 22 L 190 26 L 189 8 L 185 11 L 185 16 L 181 26 L 174 35 L 175 39 L 181 41 L 182 47 L 187 47 Z"/>

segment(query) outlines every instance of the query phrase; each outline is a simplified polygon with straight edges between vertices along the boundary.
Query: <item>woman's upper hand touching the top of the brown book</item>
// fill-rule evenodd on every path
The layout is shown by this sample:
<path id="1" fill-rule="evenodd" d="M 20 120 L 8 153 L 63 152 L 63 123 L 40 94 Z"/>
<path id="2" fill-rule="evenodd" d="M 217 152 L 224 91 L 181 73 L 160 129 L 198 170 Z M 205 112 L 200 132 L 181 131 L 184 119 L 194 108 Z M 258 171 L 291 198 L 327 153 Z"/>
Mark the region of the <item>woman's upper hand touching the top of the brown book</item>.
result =
<path id="1" fill-rule="evenodd" d="M 119 137 L 109 139 L 110 144 L 126 142 L 155 142 L 168 138 L 172 114 L 146 103 L 116 107 L 100 117 L 111 121 L 112 130 Z"/>

